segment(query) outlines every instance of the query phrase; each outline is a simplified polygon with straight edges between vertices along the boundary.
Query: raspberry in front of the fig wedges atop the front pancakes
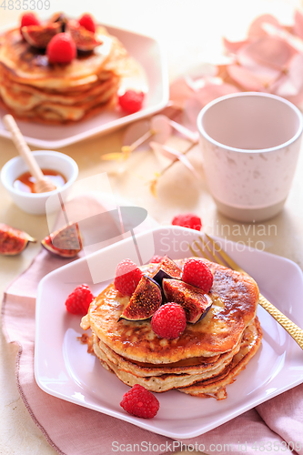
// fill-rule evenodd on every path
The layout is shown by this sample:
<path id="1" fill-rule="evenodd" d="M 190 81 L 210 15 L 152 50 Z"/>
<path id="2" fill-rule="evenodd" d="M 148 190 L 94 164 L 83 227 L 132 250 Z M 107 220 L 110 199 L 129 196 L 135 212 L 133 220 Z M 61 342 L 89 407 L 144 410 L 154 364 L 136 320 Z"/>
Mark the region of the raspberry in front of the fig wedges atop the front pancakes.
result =
<path id="1" fill-rule="evenodd" d="M 161 339 L 177 339 L 187 327 L 186 313 L 181 305 L 168 302 L 154 313 L 151 326 Z"/>

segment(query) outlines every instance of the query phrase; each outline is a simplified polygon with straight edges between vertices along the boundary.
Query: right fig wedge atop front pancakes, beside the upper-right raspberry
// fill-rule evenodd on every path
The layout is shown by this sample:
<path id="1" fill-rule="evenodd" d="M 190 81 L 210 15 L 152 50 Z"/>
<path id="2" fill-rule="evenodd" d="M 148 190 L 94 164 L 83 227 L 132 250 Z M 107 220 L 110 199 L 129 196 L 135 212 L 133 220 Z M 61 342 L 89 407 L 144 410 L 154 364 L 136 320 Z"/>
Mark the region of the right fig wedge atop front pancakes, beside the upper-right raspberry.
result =
<path id="1" fill-rule="evenodd" d="M 186 312 L 187 322 L 191 324 L 205 318 L 212 306 L 212 299 L 203 290 L 178 279 L 165 278 L 162 287 L 167 301 L 181 305 Z"/>

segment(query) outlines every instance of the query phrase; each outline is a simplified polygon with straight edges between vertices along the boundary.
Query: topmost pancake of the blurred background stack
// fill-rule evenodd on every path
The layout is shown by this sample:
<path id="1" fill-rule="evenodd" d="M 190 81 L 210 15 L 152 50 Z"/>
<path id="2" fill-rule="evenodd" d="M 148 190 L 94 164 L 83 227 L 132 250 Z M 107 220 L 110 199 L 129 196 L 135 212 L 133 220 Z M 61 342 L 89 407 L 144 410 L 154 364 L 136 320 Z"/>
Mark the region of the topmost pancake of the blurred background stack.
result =
<path id="1" fill-rule="evenodd" d="M 77 56 L 68 65 L 49 65 L 47 56 L 28 45 L 19 28 L 15 28 L 0 37 L 0 63 L 12 81 L 30 86 L 64 89 L 91 84 L 103 72 L 115 71 L 116 62 L 128 56 L 124 46 L 105 27 L 98 25 L 96 38 L 103 44 L 92 53 Z"/>

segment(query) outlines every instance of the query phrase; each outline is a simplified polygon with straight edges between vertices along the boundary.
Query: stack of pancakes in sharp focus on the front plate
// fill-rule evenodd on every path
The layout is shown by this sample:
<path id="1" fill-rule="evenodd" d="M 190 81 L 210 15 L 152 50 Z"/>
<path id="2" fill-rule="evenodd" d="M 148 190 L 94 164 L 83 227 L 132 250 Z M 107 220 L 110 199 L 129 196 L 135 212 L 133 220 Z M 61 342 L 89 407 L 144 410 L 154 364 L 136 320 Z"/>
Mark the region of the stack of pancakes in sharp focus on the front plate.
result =
<path id="1" fill-rule="evenodd" d="M 176 262 L 182 268 L 184 259 Z M 246 367 L 262 339 L 256 316 L 258 286 L 245 274 L 206 262 L 214 273 L 212 307 L 204 319 L 187 323 L 179 338 L 160 339 L 150 319 L 119 320 L 129 298 L 111 284 L 82 319 L 81 327 L 92 329 L 88 350 L 129 386 L 227 398 L 227 384 Z M 155 265 L 149 265 L 145 273 L 152 275 L 154 270 Z"/>

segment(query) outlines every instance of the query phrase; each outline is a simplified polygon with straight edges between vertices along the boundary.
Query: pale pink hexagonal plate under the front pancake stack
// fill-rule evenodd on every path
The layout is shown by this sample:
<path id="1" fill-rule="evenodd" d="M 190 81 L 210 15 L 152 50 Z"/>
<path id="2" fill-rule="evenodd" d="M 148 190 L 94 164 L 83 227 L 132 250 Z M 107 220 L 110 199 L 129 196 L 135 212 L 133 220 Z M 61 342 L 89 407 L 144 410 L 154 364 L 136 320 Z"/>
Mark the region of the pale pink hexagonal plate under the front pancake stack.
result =
<path id="1" fill-rule="evenodd" d="M 172 259 L 192 256 L 187 245 L 197 238 L 197 232 L 183 227 L 157 227 L 152 233 L 156 254 L 167 254 Z M 136 236 L 138 245 L 147 239 L 150 240 L 150 232 Z M 95 259 L 114 265 L 121 249 L 127 249 L 131 242 L 132 238 L 126 238 L 103 248 L 94 253 Z M 258 249 L 222 242 L 227 253 L 256 279 L 260 292 L 300 325 L 303 274 L 297 264 Z M 275 319 L 258 307 L 263 330 L 261 346 L 237 380 L 227 386 L 227 399 L 197 398 L 172 389 L 156 394 L 160 410 L 154 419 L 137 419 L 127 414 L 119 403 L 129 388 L 104 369 L 96 356 L 87 353 L 87 346 L 78 339 L 84 333 L 80 328 L 81 317 L 67 313 L 65 307 L 67 295 L 77 285 L 86 282 L 98 295 L 111 281 L 94 284 L 87 258 L 59 268 L 41 280 L 36 298 L 35 379 L 46 393 L 167 437 L 187 439 L 303 382 L 301 349 Z"/>

